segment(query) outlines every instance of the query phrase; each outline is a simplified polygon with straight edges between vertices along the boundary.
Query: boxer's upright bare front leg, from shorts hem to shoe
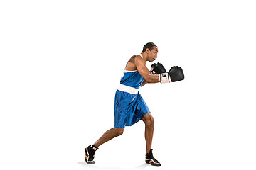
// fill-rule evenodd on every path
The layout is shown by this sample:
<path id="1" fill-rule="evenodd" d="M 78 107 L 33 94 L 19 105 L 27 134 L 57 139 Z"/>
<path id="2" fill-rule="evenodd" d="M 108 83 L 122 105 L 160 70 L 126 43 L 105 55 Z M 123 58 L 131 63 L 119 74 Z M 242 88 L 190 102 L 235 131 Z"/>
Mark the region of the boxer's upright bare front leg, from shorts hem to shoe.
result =
<path id="1" fill-rule="evenodd" d="M 151 113 L 146 113 L 142 120 L 145 123 L 146 153 L 149 154 L 149 151 L 152 147 L 152 139 L 154 134 L 154 118 Z"/>

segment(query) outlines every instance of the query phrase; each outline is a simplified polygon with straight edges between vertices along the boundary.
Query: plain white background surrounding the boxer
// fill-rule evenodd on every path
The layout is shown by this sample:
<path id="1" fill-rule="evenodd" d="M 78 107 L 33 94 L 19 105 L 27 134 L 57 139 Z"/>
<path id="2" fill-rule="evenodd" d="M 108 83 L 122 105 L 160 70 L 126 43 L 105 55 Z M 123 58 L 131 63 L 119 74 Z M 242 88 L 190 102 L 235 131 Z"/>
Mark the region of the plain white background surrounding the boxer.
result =
<path id="1" fill-rule="evenodd" d="M 1 1 L 1 169 L 156 169 L 144 123 L 113 127 L 114 93 L 146 42 L 185 80 L 140 93 L 159 169 L 256 169 L 255 1 Z M 146 66 L 150 67 L 151 63 Z"/>

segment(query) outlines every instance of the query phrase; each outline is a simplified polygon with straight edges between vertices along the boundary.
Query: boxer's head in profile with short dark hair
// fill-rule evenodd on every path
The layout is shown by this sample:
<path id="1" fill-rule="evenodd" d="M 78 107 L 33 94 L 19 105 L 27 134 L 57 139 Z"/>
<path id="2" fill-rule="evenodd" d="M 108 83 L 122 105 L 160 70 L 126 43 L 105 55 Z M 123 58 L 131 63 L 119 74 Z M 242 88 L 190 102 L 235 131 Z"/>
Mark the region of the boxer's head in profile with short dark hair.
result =
<path id="1" fill-rule="evenodd" d="M 154 62 L 157 58 L 158 47 L 153 42 L 146 43 L 143 47 L 142 53 L 146 55 L 146 60 Z"/>

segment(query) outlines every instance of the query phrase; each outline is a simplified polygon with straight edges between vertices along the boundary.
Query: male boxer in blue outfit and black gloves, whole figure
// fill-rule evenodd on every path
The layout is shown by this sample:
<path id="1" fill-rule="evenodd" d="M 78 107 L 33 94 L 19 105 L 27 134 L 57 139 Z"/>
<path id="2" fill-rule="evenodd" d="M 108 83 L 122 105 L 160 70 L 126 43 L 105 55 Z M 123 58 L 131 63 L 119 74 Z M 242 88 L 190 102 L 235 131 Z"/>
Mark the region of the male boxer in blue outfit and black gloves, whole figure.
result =
<path id="1" fill-rule="evenodd" d="M 172 67 L 166 73 L 160 63 L 152 64 L 151 71 L 146 62 L 154 62 L 157 58 L 158 47 L 149 42 L 144 45 L 141 55 L 132 56 L 124 69 L 120 86 L 114 99 L 114 128 L 107 130 L 93 145 L 85 148 L 85 162 L 94 164 L 95 151 L 100 145 L 122 135 L 125 126 L 131 126 L 142 120 L 145 123 L 146 163 L 154 166 L 161 164 L 154 158 L 152 152 L 152 138 L 154 133 L 154 118 L 139 94 L 139 87 L 147 83 L 168 83 L 184 79 L 181 67 Z"/>

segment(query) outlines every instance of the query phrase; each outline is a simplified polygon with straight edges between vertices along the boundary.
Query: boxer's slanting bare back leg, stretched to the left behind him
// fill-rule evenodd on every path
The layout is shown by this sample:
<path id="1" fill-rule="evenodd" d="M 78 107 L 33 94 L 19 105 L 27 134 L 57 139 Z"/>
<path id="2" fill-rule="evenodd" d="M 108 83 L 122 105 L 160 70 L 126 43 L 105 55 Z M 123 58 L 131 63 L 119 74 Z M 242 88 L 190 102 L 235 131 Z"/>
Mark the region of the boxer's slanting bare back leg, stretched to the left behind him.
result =
<path id="1" fill-rule="evenodd" d="M 114 137 L 122 135 L 124 132 L 124 128 L 112 128 L 107 130 L 99 140 L 97 140 L 93 145 L 95 147 L 100 147 L 100 145 L 104 144 L 105 142 L 112 140 Z"/>

